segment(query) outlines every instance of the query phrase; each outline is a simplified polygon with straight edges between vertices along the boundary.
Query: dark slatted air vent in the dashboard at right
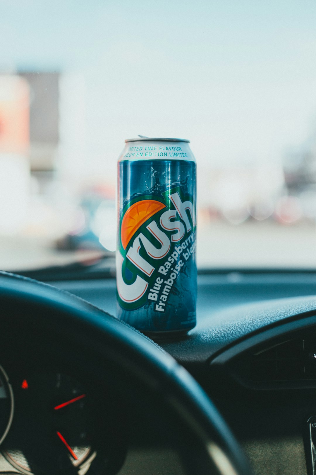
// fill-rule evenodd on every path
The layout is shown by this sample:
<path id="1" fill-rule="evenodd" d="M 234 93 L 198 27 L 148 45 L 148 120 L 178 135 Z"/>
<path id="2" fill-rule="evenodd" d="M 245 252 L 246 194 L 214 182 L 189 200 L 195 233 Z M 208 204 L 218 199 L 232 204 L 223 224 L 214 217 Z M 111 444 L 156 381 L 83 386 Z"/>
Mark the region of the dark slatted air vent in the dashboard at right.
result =
<path id="1" fill-rule="evenodd" d="M 283 341 L 249 356 L 243 359 L 249 380 L 316 380 L 316 338 Z"/>

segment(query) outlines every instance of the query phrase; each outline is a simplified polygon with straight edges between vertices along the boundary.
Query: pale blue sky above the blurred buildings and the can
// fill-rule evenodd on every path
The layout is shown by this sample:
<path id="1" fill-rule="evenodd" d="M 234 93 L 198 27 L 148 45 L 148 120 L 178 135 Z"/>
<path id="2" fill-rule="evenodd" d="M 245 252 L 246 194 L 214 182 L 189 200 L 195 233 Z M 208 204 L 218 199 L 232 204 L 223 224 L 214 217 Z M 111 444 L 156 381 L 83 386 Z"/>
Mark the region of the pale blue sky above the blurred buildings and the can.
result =
<path id="1" fill-rule="evenodd" d="M 0 70 L 84 78 L 96 167 L 138 133 L 274 162 L 316 131 L 315 20 L 309 0 L 0 0 Z"/>

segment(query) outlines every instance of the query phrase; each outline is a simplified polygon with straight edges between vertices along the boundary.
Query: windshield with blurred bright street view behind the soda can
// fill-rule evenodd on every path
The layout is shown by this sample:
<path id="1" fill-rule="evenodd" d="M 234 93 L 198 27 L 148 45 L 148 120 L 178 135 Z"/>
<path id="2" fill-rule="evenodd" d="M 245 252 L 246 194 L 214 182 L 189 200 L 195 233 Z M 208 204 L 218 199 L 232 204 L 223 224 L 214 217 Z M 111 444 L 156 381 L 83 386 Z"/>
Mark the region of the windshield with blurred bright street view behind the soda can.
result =
<path id="1" fill-rule="evenodd" d="M 198 266 L 316 268 L 316 4 L 0 2 L 0 268 L 108 255 L 117 157 L 190 139 Z"/>

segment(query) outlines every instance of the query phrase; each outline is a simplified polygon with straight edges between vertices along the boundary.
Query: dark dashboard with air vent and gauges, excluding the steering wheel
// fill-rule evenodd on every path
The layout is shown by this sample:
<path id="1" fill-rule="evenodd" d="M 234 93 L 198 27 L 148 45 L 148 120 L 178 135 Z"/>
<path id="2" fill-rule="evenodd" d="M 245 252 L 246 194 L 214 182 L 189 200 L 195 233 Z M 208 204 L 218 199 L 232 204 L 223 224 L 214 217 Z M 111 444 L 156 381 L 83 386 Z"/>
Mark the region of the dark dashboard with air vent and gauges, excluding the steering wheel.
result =
<path id="1" fill-rule="evenodd" d="M 114 278 L 49 283 L 115 314 Z M 313 295 L 311 272 L 205 272 L 196 328 L 158 342 L 207 392 L 254 474 L 315 468 Z M 32 348 L 37 340 L 30 326 L 0 346 L 0 473 L 186 473 L 159 401 L 132 397 L 115 375 L 100 379 L 83 345 L 67 347 L 62 333 L 51 346 Z"/>

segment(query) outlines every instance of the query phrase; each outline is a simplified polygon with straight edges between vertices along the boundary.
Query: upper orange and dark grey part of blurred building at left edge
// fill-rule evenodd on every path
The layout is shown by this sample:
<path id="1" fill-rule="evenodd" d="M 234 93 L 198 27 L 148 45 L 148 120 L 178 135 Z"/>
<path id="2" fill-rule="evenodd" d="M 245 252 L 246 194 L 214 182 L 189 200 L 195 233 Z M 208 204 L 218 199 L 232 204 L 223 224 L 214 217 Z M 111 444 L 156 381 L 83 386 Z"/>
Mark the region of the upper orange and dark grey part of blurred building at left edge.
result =
<path id="1" fill-rule="evenodd" d="M 59 73 L 0 75 L 0 153 L 27 157 L 39 182 L 55 168 L 59 142 Z"/>

